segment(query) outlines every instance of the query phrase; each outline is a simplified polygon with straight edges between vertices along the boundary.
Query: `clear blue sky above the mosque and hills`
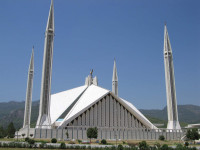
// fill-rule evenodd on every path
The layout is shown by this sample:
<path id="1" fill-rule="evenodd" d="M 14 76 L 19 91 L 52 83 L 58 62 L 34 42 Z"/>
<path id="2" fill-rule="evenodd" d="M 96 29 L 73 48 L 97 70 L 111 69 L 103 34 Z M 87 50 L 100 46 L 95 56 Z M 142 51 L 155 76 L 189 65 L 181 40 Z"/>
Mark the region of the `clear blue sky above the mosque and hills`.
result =
<path id="1" fill-rule="evenodd" d="M 0 102 L 23 101 L 32 46 L 33 100 L 40 96 L 50 0 L 0 1 Z M 199 0 L 55 0 L 52 93 L 81 86 L 90 69 L 137 108 L 166 106 L 164 22 L 171 41 L 178 104 L 200 105 Z"/>

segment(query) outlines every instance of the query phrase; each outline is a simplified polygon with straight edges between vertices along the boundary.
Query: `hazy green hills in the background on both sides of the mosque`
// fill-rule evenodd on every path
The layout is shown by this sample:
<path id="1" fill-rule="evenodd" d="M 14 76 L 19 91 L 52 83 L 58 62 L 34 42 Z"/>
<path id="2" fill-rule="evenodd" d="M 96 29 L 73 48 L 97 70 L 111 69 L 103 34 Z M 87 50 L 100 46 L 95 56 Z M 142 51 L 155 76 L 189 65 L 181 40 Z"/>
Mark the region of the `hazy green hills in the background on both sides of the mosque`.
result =
<path id="1" fill-rule="evenodd" d="M 24 102 L 0 103 L 0 126 L 7 127 L 13 122 L 17 129 L 21 128 L 24 120 Z M 167 108 L 140 111 L 154 124 L 167 124 Z M 200 106 L 178 105 L 179 121 L 182 126 L 200 122 Z M 39 101 L 33 101 L 31 111 L 31 126 L 34 127 L 39 113 Z"/>

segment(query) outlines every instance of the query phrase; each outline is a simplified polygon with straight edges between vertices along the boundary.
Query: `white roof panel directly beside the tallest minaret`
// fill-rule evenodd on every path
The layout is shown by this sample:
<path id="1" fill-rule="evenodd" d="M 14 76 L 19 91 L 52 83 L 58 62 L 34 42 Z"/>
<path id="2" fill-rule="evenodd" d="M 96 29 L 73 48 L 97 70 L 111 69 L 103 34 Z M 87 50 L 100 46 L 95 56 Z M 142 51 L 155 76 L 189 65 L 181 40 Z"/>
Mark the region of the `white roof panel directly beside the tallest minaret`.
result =
<path id="1" fill-rule="evenodd" d="M 83 93 L 87 86 L 80 86 L 71 90 L 51 95 L 50 117 L 53 124 L 60 115 Z"/>

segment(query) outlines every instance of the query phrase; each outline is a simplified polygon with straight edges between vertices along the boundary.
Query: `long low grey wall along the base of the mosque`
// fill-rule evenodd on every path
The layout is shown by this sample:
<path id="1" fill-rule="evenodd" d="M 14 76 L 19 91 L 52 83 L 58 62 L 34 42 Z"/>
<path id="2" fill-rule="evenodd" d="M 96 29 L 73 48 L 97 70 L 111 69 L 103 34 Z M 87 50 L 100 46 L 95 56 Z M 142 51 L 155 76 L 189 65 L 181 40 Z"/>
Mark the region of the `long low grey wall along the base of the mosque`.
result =
<path id="1" fill-rule="evenodd" d="M 89 127 L 68 127 L 67 129 L 35 129 L 34 138 L 38 139 L 87 139 L 87 129 Z M 180 140 L 186 130 L 167 130 L 167 129 L 131 129 L 131 128 L 98 128 L 97 139 L 108 140 L 158 140 L 163 135 L 166 140 Z"/>

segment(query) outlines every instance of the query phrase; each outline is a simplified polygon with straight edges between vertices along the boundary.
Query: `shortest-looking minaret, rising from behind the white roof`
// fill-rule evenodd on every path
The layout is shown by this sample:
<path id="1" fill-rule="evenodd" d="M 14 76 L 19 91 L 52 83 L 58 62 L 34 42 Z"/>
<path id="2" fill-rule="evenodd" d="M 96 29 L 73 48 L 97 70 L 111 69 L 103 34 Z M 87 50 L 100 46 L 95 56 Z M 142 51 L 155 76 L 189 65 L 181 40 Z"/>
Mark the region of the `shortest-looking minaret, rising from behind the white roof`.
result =
<path id="1" fill-rule="evenodd" d="M 118 96 L 118 77 L 117 77 L 117 67 L 115 59 L 113 66 L 112 92 Z"/>

